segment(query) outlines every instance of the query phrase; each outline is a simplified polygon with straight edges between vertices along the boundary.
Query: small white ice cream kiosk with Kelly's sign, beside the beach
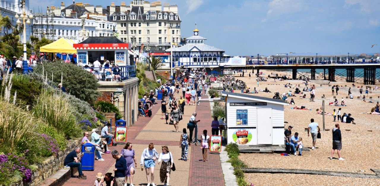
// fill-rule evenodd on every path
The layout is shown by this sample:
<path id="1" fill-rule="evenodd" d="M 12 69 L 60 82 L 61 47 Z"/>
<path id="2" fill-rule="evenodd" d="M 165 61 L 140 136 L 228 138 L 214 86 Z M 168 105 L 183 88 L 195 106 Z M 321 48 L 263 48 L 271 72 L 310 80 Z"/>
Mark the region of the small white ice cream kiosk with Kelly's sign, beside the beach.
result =
<path id="1" fill-rule="evenodd" d="M 227 143 L 236 143 L 239 149 L 272 146 L 282 150 L 287 102 L 233 92 L 222 95 L 226 103 Z"/>

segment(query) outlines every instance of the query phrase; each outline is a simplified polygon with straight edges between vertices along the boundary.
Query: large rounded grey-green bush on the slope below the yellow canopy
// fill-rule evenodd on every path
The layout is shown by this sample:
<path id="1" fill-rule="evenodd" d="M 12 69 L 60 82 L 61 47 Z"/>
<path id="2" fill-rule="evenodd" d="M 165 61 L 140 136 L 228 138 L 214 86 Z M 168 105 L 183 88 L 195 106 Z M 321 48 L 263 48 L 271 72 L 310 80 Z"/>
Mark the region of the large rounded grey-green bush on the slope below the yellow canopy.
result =
<path id="1" fill-rule="evenodd" d="M 83 101 L 92 103 L 100 96 L 100 92 L 97 91 L 98 80 L 91 73 L 72 63 L 50 62 L 38 65 L 33 69 L 33 72 L 38 74 L 42 74 L 43 71 L 45 75 L 47 73 L 49 80 L 52 79 L 53 73 L 54 86 L 58 86 L 61 82 L 63 73 L 63 86 L 67 93 Z"/>

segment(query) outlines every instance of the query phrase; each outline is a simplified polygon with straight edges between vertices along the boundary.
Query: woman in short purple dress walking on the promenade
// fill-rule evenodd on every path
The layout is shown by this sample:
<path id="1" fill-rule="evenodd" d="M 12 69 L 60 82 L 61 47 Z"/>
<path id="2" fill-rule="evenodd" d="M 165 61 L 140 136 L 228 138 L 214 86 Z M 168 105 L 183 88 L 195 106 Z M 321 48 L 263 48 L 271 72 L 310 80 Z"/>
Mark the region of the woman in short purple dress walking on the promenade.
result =
<path id="1" fill-rule="evenodd" d="M 133 175 L 135 174 L 135 168 L 137 167 L 137 161 L 135 156 L 135 150 L 132 149 L 132 144 L 128 142 L 125 144 L 124 148 L 121 150 L 120 155 L 125 158 L 127 162 L 127 170 L 125 170 L 125 184 L 127 184 L 128 177 L 130 186 L 133 185 Z"/>

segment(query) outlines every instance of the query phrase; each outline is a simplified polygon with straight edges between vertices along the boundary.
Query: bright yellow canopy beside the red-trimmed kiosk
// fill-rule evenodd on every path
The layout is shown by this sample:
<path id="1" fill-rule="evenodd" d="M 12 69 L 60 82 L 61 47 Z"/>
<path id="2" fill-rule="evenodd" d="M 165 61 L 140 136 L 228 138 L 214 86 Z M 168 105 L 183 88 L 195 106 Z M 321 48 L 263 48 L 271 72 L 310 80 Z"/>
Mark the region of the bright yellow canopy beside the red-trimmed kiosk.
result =
<path id="1" fill-rule="evenodd" d="M 65 38 L 60 38 L 57 41 L 40 47 L 40 52 L 51 53 L 76 53 L 73 43 Z"/>

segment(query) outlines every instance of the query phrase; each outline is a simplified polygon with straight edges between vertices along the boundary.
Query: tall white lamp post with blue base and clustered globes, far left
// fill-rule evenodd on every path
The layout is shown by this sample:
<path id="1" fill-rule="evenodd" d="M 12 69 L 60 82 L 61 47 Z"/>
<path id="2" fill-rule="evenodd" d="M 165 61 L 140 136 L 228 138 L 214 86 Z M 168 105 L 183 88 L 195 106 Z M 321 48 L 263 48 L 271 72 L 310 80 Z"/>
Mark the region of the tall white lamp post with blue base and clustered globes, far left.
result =
<path id="1" fill-rule="evenodd" d="M 16 13 L 16 16 L 14 16 L 17 21 L 17 25 L 24 25 L 23 31 L 22 31 L 22 43 L 24 45 L 23 52 L 24 52 L 24 59 L 22 59 L 22 73 L 28 74 L 28 63 L 27 63 L 27 57 L 26 57 L 26 24 L 30 25 L 30 19 L 33 19 L 33 14 L 29 14 L 25 12 L 25 0 L 22 0 L 22 13 L 20 16 Z"/>

